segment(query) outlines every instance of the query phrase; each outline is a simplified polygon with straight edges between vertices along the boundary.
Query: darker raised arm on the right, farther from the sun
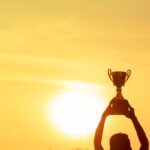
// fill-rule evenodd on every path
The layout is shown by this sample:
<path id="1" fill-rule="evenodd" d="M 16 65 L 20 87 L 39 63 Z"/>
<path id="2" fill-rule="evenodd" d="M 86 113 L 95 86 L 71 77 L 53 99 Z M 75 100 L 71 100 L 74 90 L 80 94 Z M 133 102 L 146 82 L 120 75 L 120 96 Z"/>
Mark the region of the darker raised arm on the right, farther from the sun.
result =
<path id="1" fill-rule="evenodd" d="M 130 105 L 129 105 L 129 113 L 126 116 L 132 120 L 132 123 L 135 127 L 138 139 L 141 143 L 140 150 L 148 150 L 149 149 L 148 139 L 141 124 L 139 123 L 137 117 L 135 116 L 134 109 Z"/>

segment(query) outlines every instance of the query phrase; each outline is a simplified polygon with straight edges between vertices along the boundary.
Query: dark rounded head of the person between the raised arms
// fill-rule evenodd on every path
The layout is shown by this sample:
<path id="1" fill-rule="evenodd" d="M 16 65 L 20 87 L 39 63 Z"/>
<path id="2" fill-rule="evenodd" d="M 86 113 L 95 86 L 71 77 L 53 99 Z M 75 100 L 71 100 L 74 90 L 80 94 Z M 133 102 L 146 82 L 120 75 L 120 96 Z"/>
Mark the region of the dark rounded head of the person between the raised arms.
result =
<path id="1" fill-rule="evenodd" d="M 128 135 L 117 133 L 110 138 L 110 150 L 132 150 Z"/>

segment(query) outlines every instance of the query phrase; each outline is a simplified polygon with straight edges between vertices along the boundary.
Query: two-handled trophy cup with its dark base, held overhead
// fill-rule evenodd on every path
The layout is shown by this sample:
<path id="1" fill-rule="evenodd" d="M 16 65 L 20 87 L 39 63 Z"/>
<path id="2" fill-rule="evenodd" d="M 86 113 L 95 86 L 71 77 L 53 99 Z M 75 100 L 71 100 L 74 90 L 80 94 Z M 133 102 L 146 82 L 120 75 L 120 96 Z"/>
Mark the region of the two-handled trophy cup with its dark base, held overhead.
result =
<path id="1" fill-rule="evenodd" d="M 127 72 L 123 71 L 112 71 L 108 69 L 108 76 L 113 84 L 116 86 L 117 94 L 112 99 L 111 103 L 111 114 L 113 115 L 121 115 L 128 112 L 128 101 L 124 99 L 121 93 L 121 87 L 124 86 L 125 82 L 129 79 L 131 75 L 131 70 L 127 70 Z"/>

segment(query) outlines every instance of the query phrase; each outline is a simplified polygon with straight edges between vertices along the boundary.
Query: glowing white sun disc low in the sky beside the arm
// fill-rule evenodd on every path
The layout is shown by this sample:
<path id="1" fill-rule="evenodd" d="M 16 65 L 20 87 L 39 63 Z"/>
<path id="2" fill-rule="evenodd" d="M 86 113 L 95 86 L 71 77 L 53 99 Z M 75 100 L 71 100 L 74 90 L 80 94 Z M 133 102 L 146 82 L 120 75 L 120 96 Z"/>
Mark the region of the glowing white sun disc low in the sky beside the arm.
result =
<path id="1" fill-rule="evenodd" d="M 72 89 L 58 94 L 48 105 L 48 116 L 63 133 L 74 137 L 93 132 L 103 111 L 101 91 Z"/>

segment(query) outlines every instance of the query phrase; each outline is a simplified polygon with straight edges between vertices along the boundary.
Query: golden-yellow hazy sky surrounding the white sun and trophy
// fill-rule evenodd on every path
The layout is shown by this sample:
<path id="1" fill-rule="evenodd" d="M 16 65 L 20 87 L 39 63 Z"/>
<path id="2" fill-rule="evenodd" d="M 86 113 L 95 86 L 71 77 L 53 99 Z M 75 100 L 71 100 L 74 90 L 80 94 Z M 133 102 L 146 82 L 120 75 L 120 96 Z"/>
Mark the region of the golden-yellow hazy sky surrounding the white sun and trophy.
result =
<path id="1" fill-rule="evenodd" d="M 66 88 L 60 81 L 103 86 L 108 104 L 115 95 L 109 68 L 132 70 L 124 97 L 150 139 L 149 6 L 148 0 L 1 0 L 0 149 L 93 149 L 94 133 L 65 137 L 48 122 L 45 104 Z M 119 126 L 128 131 L 132 124 Z"/>

